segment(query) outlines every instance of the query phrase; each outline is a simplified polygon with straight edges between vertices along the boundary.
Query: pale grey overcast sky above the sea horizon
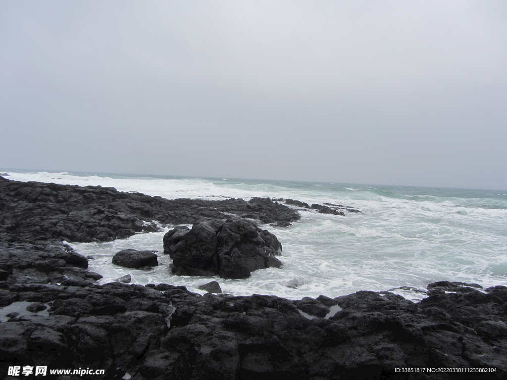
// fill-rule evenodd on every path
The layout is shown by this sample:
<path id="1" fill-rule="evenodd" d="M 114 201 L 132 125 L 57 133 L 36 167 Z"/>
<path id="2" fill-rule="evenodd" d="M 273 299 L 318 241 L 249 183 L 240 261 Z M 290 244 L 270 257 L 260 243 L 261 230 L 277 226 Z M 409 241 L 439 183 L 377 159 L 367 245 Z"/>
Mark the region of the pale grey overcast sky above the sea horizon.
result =
<path id="1" fill-rule="evenodd" d="M 0 168 L 507 189 L 507 3 L 0 0 Z"/>

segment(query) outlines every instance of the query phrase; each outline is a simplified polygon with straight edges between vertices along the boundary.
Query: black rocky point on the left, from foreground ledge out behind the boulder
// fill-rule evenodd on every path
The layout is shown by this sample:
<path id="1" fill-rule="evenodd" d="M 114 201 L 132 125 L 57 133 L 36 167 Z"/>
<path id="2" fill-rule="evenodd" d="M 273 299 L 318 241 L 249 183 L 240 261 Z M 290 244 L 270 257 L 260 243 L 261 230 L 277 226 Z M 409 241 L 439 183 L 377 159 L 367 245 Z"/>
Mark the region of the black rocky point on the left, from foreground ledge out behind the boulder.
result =
<path id="1" fill-rule="evenodd" d="M 159 231 L 157 223 L 194 223 L 203 217 L 253 218 L 288 225 L 296 210 L 253 198 L 167 200 L 112 187 L 12 181 L 0 176 L 0 286 L 100 279 L 68 242 L 112 241 Z"/>

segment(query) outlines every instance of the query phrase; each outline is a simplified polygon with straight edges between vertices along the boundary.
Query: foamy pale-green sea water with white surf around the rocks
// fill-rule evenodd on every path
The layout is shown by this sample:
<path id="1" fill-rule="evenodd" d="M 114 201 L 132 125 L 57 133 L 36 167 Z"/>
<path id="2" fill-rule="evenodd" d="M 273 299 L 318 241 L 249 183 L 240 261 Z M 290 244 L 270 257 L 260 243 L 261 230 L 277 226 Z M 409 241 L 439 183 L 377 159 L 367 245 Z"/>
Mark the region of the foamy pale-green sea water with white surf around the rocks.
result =
<path id="1" fill-rule="evenodd" d="M 173 276 L 163 255 L 164 232 L 138 234 L 110 243 L 69 243 L 93 256 L 99 283 L 131 274 L 139 284 L 169 283 L 197 290 L 216 280 L 235 295 L 271 294 L 291 299 L 330 297 L 359 290 L 390 289 L 422 299 L 426 285 L 441 280 L 507 286 L 507 191 L 412 186 L 315 183 L 232 178 L 184 178 L 100 173 L 3 170 L 10 179 L 111 186 L 168 199 L 292 198 L 350 206 L 346 216 L 301 211 L 289 227 L 261 227 L 282 244 L 282 269 L 252 273 L 244 280 Z M 159 267 L 130 270 L 111 263 L 121 249 L 159 251 Z M 401 288 L 403 287 L 403 288 Z"/>

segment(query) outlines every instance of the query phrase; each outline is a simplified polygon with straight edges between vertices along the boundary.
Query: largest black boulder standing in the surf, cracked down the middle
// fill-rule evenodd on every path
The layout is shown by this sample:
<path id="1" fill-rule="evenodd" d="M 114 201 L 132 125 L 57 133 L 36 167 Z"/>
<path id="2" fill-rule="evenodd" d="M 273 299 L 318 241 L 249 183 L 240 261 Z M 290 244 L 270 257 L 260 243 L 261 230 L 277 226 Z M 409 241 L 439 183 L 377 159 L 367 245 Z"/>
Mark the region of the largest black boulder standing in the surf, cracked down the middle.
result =
<path id="1" fill-rule="evenodd" d="M 205 220 L 179 226 L 164 236 L 172 272 L 187 276 L 247 278 L 252 271 L 281 267 L 276 236 L 249 220 Z"/>

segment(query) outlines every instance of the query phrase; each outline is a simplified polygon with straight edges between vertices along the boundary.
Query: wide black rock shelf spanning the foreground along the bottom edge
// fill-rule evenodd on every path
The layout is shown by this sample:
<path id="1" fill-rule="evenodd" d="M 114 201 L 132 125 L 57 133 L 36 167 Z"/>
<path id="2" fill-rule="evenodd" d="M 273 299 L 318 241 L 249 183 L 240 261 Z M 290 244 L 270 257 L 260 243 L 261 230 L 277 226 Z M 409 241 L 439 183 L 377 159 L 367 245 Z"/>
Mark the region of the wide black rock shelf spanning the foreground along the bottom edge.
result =
<path id="1" fill-rule="evenodd" d="M 0 305 L 50 309 L 0 323 L 0 377 L 15 363 L 132 380 L 505 378 L 507 287 L 428 288 L 415 304 L 370 291 L 291 301 L 167 284 L 13 285 L 0 291 Z M 395 368 L 404 367 L 494 371 L 400 377 Z"/>

